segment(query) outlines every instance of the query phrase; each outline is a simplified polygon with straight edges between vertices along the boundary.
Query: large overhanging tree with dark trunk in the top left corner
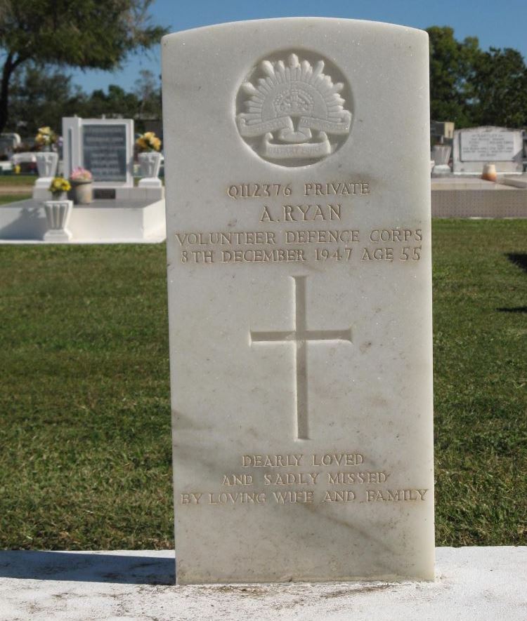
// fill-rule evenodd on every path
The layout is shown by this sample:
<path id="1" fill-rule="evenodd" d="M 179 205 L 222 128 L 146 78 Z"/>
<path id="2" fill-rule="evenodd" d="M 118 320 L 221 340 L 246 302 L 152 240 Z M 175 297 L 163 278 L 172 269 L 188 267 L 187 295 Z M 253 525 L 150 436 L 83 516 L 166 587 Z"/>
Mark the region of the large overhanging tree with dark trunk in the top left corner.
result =
<path id="1" fill-rule="evenodd" d="M 115 69 L 165 30 L 151 25 L 152 0 L 0 0 L 0 132 L 13 74 L 30 60 L 58 67 Z"/>

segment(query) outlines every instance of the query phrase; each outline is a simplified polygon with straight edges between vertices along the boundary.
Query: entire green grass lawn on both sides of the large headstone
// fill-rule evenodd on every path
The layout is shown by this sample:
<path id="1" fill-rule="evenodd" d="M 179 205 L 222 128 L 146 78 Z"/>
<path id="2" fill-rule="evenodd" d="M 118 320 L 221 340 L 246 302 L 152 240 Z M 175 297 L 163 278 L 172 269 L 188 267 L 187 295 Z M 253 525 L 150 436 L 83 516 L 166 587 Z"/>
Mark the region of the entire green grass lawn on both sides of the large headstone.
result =
<path id="1" fill-rule="evenodd" d="M 525 543 L 527 220 L 434 222 L 436 541 Z M 173 546 L 164 246 L 0 246 L 0 547 Z"/>

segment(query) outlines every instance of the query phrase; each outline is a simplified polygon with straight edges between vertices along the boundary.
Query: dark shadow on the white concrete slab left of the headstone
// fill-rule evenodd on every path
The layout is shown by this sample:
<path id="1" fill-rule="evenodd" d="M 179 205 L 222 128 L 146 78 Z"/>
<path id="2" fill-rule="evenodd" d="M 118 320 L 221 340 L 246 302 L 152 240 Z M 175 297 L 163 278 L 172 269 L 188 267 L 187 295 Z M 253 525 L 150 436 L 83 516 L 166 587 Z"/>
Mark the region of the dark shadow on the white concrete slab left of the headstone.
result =
<path id="1" fill-rule="evenodd" d="M 120 585 L 174 585 L 171 556 L 124 552 L 37 552 L 0 550 L 0 577 L 63 582 L 112 582 Z"/>

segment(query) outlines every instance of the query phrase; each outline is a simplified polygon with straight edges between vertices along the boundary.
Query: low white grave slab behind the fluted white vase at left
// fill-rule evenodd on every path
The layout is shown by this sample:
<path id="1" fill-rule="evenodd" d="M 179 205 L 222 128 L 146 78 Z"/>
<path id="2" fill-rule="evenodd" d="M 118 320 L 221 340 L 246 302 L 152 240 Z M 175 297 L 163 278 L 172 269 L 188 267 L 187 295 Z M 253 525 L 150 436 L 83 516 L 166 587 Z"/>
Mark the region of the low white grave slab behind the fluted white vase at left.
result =
<path id="1" fill-rule="evenodd" d="M 72 208 L 69 243 L 159 243 L 166 239 L 164 199 L 98 200 Z M 0 243 L 53 243 L 41 201 L 0 206 Z"/>

